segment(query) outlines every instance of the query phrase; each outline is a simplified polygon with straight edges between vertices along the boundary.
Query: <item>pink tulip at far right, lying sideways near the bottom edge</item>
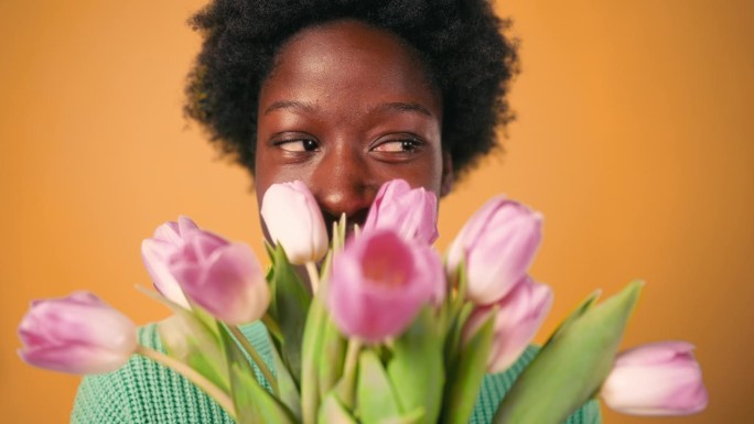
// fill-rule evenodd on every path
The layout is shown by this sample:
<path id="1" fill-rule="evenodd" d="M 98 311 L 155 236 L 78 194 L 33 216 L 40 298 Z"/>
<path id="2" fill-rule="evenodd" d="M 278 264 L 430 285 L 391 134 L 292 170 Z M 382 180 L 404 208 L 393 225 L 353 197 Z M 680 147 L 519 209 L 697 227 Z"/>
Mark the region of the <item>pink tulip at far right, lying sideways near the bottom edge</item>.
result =
<path id="1" fill-rule="evenodd" d="M 660 341 L 622 352 L 602 384 L 602 400 L 632 415 L 688 415 L 707 406 L 701 368 L 686 341 Z"/>

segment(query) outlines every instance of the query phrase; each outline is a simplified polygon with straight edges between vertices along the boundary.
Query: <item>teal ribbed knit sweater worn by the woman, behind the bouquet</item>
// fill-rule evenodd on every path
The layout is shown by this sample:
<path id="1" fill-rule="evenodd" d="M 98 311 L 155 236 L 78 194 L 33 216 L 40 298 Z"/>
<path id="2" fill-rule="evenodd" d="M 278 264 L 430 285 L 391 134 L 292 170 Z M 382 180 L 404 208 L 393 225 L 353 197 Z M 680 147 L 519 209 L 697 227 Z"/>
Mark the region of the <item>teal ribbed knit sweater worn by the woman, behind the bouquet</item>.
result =
<path id="1" fill-rule="evenodd" d="M 268 365 L 272 354 L 267 331 L 260 323 L 241 327 Z M 157 325 L 139 329 L 139 343 L 162 350 Z M 488 424 L 503 395 L 534 358 L 529 348 L 505 372 L 486 376 L 470 424 Z M 257 379 L 263 381 L 259 370 Z M 233 418 L 183 377 L 149 359 L 134 355 L 119 370 L 87 376 L 76 395 L 71 422 L 77 424 L 234 424 Z M 566 424 L 601 423 L 600 406 L 586 403 Z M 532 423 L 536 424 L 536 423 Z"/>

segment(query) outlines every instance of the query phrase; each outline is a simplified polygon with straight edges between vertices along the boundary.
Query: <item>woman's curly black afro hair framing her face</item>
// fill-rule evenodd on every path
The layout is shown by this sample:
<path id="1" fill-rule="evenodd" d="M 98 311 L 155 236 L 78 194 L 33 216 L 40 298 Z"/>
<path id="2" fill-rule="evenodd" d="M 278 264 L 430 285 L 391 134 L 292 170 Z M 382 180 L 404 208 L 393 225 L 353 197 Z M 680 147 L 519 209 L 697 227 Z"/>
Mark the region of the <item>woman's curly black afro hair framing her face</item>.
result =
<path id="1" fill-rule="evenodd" d="M 281 45 L 304 28 L 354 19 L 416 48 L 442 95 L 442 146 L 456 176 L 497 145 L 513 119 L 518 72 L 508 20 L 486 0 L 214 0 L 191 20 L 204 43 L 186 84 L 185 113 L 254 175 L 259 91 Z"/>

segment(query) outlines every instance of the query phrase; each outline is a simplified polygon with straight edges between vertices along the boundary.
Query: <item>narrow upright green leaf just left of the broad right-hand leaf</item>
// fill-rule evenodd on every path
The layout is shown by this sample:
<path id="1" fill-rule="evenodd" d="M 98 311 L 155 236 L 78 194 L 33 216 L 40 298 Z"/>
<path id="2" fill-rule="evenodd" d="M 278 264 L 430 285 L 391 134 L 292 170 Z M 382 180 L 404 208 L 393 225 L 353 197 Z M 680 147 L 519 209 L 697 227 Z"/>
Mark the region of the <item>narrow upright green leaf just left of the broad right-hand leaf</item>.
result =
<path id="1" fill-rule="evenodd" d="M 463 345 L 457 360 L 449 369 L 442 420 L 443 424 L 466 424 L 487 368 L 495 329 L 495 313 L 484 322 L 475 335 Z"/>

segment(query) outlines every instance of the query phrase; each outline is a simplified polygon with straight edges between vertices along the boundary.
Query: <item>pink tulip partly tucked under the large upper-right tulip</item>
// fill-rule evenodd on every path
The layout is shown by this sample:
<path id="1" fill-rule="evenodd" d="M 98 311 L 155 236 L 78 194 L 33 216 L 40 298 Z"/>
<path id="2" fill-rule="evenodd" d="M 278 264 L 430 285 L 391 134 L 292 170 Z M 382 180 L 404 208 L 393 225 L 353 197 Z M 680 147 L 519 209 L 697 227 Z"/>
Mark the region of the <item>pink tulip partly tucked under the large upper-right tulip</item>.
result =
<path id="1" fill-rule="evenodd" d="M 493 347 L 487 359 L 487 372 L 500 372 L 524 352 L 552 306 L 552 290 L 525 276 L 497 303 L 477 307 L 468 317 L 466 338 L 475 333 L 497 307 Z"/>

